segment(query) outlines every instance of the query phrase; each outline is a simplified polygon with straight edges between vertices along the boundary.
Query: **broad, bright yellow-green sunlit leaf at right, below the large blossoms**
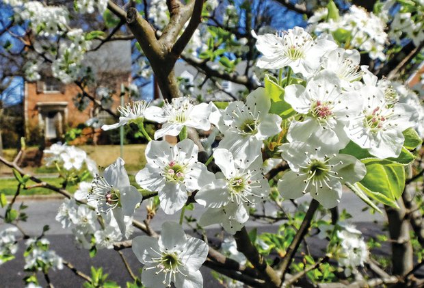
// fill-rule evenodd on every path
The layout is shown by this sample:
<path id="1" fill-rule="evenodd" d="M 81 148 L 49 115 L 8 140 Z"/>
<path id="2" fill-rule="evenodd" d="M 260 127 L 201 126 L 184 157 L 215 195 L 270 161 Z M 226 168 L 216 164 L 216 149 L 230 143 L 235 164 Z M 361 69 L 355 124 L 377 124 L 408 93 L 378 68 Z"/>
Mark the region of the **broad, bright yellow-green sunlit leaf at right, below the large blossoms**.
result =
<path id="1" fill-rule="evenodd" d="M 405 170 L 399 163 L 380 159 L 362 159 L 367 168 L 367 174 L 360 184 L 367 188 L 364 190 L 371 198 L 379 200 L 386 205 L 394 205 L 405 187 Z"/>

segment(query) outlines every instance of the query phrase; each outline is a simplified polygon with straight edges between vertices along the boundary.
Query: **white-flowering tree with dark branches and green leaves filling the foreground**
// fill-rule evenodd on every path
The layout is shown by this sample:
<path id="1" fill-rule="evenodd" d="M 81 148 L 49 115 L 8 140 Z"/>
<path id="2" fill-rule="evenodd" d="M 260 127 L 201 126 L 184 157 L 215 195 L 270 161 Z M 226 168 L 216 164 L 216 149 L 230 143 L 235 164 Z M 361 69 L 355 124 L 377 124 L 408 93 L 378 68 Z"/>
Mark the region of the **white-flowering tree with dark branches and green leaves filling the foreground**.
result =
<path id="1" fill-rule="evenodd" d="M 34 58 L 25 64 L 28 80 L 40 77 L 42 57 L 51 62 L 55 77 L 64 83 L 76 81 L 84 92 L 94 81 L 82 65 L 92 40 L 103 43 L 118 37 L 116 32 L 126 23 L 128 34 L 118 38 L 137 40 L 165 101 L 127 103 L 118 108 L 116 124 L 102 127 L 135 123 L 148 140 L 147 163 L 133 185 L 122 159 L 99 171 L 74 146 L 54 144 L 44 151 L 50 156 L 48 165 L 55 165 L 63 177 L 62 187 L 27 175 L 16 161 L 0 157 L 18 180 L 12 200 L 1 196 L 2 220 L 16 227 L 1 231 L 2 262 L 16 253 L 16 229 L 25 221 L 25 206 L 16 207 L 16 196 L 34 187 L 27 185 L 31 179 L 66 197 L 56 220 L 72 230 L 76 243 L 90 255 L 101 248 L 132 248 L 143 268 L 137 275 L 127 266 L 134 281 L 129 287 L 202 287 L 201 265 L 215 270 L 227 286 L 422 284 L 414 274 L 422 265 L 424 244 L 418 191 L 424 171 L 419 153 L 424 109 L 401 77 L 394 79 L 421 59 L 423 3 L 385 1 L 376 3 L 374 12 L 350 5 L 342 13 L 328 1 L 312 13 L 302 3 L 278 1 L 308 14 L 309 25 L 269 34 L 255 29 L 260 25 L 254 25 L 252 15 L 260 4 L 249 1 L 240 8 L 202 0 L 153 1 L 150 6 L 136 2 L 75 0 L 72 13 L 103 14 L 111 29 L 106 35 L 72 27 L 65 6 L 7 1 L 14 21 L 31 31 L 31 37 L 23 39 L 33 48 L 28 57 Z M 223 16 L 217 16 L 220 10 Z M 244 30 L 237 27 L 240 10 L 246 12 Z M 209 19 L 209 26 L 200 25 L 202 18 Z M 59 43 L 57 49 L 49 50 L 49 41 Z M 249 49 L 243 51 L 243 45 Z M 226 103 L 199 103 L 201 98 L 196 103 L 182 95 L 174 75 L 180 57 L 213 81 L 243 84 L 248 92 Z M 248 62 L 243 75 L 235 72 L 239 57 Z M 90 98 L 88 92 L 84 95 Z M 147 121 L 160 125 L 155 140 L 144 129 Z M 209 138 L 201 139 L 201 130 L 210 131 Z M 176 136 L 178 142 L 161 140 L 165 135 Z M 79 184 L 73 195 L 66 190 L 70 183 Z M 378 243 L 365 243 L 360 231 L 345 222 L 347 215 L 339 215 L 343 187 L 373 213 L 386 211 L 393 254 L 390 272 L 368 252 Z M 299 205 L 295 199 L 305 194 L 310 203 Z M 284 200 L 292 200 L 294 213 L 286 211 Z M 143 202 L 147 217 L 140 221 L 134 213 Z M 276 207 L 276 213 L 266 213 L 264 203 Z M 185 216 L 187 209 L 201 207 L 200 219 Z M 164 222 L 160 232 L 153 231 L 150 221 L 160 210 L 176 215 L 179 222 Z M 257 234 L 246 229 L 250 219 L 285 221 L 276 233 Z M 220 224 L 228 239 L 216 246 L 202 232 L 201 239 L 187 235 L 183 223 L 195 232 Z M 135 229 L 146 235 L 133 237 Z M 51 285 L 49 271 L 66 265 L 87 280 L 87 287 L 114 286 L 99 276 L 101 270 L 93 269 L 90 277 L 63 261 L 59 252 L 49 250 L 44 232 L 26 241 L 26 271 L 41 271 Z M 325 254 L 308 252 L 308 235 L 328 240 Z M 306 251 L 302 254 L 297 253 L 301 245 Z M 29 287 L 38 285 L 35 273 L 25 281 Z"/>

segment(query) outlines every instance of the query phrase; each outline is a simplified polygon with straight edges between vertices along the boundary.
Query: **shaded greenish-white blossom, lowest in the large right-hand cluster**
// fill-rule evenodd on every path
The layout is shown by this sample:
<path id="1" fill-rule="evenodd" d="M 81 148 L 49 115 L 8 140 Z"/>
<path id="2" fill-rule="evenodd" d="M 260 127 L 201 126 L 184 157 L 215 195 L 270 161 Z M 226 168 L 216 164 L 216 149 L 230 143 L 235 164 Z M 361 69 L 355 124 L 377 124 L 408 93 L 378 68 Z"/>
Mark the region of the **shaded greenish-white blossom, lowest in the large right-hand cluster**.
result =
<path id="1" fill-rule="evenodd" d="M 308 193 L 325 208 L 336 207 L 341 199 L 341 185 L 356 183 L 365 176 L 365 165 L 351 155 L 328 155 L 321 147 L 302 142 L 282 144 L 282 158 L 291 168 L 278 181 L 284 198 L 300 198 Z"/>

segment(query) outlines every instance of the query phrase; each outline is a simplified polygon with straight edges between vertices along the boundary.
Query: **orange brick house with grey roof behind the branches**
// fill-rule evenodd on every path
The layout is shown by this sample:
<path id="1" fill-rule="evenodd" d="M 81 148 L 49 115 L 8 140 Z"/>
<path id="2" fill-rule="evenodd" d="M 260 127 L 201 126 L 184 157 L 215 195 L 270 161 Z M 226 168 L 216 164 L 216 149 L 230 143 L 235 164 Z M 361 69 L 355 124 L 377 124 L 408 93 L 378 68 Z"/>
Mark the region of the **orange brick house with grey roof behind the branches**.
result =
<path id="1" fill-rule="evenodd" d="M 96 76 L 96 84 L 86 88 L 87 92 L 98 98 L 102 89 L 112 90 L 109 105 L 116 110 L 120 105 L 121 84 L 128 86 L 131 83 L 131 42 L 107 42 L 98 50 L 87 53 L 84 63 Z M 25 82 L 25 138 L 57 142 L 63 139 L 66 129 L 77 127 L 92 117 L 97 117 L 100 122 L 111 118 L 107 112 L 100 112 L 92 101 L 80 111 L 75 101 L 81 89 L 75 83 L 64 85 L 52 77 L 49 66 L 44 66 L 40 74 L 40 81 Z"/>

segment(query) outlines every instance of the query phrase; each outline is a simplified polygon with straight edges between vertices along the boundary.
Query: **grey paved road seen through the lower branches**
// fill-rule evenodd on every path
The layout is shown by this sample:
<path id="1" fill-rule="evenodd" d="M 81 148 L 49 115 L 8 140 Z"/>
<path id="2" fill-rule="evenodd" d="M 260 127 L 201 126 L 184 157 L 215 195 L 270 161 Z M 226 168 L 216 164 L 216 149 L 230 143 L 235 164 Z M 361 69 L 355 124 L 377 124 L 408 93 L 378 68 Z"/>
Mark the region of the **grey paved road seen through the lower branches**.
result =
<path id="1" fill-rule="evenodd" d="M 304 196 L 302 200 L 310 200 L 308 195 Z M 129 274 L 124 269 L 124 265 L 118 254 L 113 250 L 100 250 L 98 254 L 93 259 L 88 257 L 88 252 L 86 250 L 78 250 L 73 244 L 73 236 L 69 230 L 63 229 L 58 222 L 55 221 L 55 215 L 57 209 L 61 204 L 62 200 L 28 200 L 25 201 L 25 204 L 28 205 L 26 210 L 27 215 L 29 216 L 28 222 L 21 224 L 22 228 L 27 231 L 29 235 L 39 235 L 42 231 L 42 226 L 44 224 L 49 224 L 50 230 L 47 232 L 47 236 L 51 241 L 51 248 L 59 255 L 61 255 L 70 263 L 74 263 L 79 270 L 90 274 L 90 266 L 95 267 L 103 266 L 105 272 L 109 273 L 111 279 L 116 280 L 122 287 L 125 287 L 126 280 L 129 280 Z M 294 209 L 291 202 L 284 203 L 286 209 Z M 361 228 L 362 232 L 365 235 L 372 235 L 375 231 L 380 231 L 380 225 L 374 224 L 375 222 L 381 222 L 384 219 L 384 215 L 374 214 L 370 215 L 368 212 L 362 212 L 362 208 L 365 207 L 365 204 L 360 201 L 354 194 L 346 192 L 343 194 L 341 200 L 340 209 L 346 209 L 347 212 L 354 215 L 354 221 L 358 224 L 358 227 Z M 271 213 L 274 207 L 271 205 L 265 206 L 265 211 Z M 187 215 L 193 215 L 194 218 L 199 218 L 202 211 L 201 207 L 196 205 L 194 211 L 187 211 Z M 0 215 L 3 214 L 3 209 L 0 209 Z M 144 219 L 144 209 L 138 209 L 135 215 L 138 219 Z M 175 220 L 178 221 L 178 215 L 165 215 L 164 213 L 158 213 L 152 222 L 153 229 L 158 231 L 160 229 L 161 223 L 165 220 Z M 248 222 L 248 228 L 252 226 L 260 227 L 260 231 L 276 231 L 278 228 L 277 224 L 274 226 L 269 226 L 267 224 L 258 224 L 257 222 Z M 4 226 L 0 225 L 0 230 Z M 188 228 L 188 227 L 185 227 Z M 217 232 L 220 229 L 218 226 L 211 226 L 208 230 L 210 238 L 215 237 Z M 312 241 L 312 240 L 311 240 Z M 313 249 L 319 252 L 320 248 L 325 246 L 325 243 L 316 241 L 313 239 Z M 23 267 L 23 244 L 19 250 L 21 253 L 17 253 L 18 257 L 14 261 L 10 261 L 0 266 L 0 287 L 23 287 L 22 278 L 25 276 L 25 272 L 22 271 Z M 133 271 L 137 271 L 140 268 L 140 263 L 135 259 L 131 250 L 124 250 L 124 254 L 127 256 Z M 202 274 L 204 275 L 204 287 L 216 287 L 217 282 L 210 275 L 210 271 L 207 268 L 202 268 Z M 43 277 L 40 275 L 39 280 L 44 281 Z M 75 277 L 72 272 L 67 270 L 65 267 L 63 271 L 53 272 L 51 274 L 51 281 L 55 287 L 81 287 L 83 280 Z"/>

